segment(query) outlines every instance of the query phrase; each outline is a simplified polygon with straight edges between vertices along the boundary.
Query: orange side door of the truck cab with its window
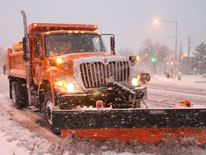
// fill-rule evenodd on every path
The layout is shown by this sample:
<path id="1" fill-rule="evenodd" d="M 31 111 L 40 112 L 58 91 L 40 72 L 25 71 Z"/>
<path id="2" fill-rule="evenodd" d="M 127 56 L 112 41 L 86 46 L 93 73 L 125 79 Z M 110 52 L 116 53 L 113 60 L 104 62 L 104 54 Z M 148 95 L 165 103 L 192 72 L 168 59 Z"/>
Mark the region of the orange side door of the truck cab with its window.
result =
<path id="1" fill-rule="evenodd" d="M 33 61 L 32 61 L 32 75 L 35 84 L 39 84 L 42 80 L 42 69 L 44 67 L 44 55 L 42 47 L 42 38 L 41 36 L 34 37 L 33 40 Z"/>

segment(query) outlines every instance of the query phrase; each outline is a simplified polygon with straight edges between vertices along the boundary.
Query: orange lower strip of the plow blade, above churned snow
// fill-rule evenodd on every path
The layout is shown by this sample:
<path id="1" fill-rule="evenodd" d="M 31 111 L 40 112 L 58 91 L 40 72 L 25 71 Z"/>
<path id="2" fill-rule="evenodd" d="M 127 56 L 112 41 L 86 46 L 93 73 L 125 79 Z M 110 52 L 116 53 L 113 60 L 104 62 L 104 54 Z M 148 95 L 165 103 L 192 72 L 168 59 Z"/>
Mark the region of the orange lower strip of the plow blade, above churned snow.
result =
<path id="1" fill-rule="evenodd" d="M 61 138 L 66 138 L 68 134 L 76 134 L 79 138 L 87 136 L 92 140 L 108 140 L 116 138 L 120 141 L 134 140 L 138 143 L 157 144 L 165 138 L 181 139 L 194 137 L 200 143 L 206 143 L 205 129 L 189 128 L 147 128 L 147 129 L 81 129 L 62 130 Z"/>

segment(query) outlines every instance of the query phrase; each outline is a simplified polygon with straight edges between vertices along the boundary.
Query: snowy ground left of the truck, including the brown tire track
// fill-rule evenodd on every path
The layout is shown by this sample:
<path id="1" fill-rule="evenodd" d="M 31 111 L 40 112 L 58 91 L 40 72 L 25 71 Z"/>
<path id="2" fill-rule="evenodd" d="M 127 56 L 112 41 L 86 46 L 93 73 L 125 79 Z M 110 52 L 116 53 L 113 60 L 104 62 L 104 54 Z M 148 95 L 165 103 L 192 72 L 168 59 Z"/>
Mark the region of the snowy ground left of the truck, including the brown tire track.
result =
<path id="1" fill-rule="evenodd" d="M 16 110 L 9 99 L 7 77 L 0 74 L 0 81 L 0 155 L 51 154 L 56 136 L 34 123 L 32 113 Z"/>

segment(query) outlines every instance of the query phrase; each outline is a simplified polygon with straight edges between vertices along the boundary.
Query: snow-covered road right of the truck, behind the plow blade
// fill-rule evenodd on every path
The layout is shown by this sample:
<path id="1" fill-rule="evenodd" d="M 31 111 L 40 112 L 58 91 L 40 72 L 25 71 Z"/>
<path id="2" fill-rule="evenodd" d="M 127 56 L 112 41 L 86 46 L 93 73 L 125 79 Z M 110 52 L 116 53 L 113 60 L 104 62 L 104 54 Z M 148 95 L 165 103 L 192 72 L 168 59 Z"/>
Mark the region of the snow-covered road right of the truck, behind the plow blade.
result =
<path id="1" fill-rule="evenodd" d="M 190 100 L 192 105 L 206 106 L 205 78 L 189 76 L 177 80 L 156 75 L 147 86 L 146 104 L 150 108 L 172 108 L 185 99 Z"/>

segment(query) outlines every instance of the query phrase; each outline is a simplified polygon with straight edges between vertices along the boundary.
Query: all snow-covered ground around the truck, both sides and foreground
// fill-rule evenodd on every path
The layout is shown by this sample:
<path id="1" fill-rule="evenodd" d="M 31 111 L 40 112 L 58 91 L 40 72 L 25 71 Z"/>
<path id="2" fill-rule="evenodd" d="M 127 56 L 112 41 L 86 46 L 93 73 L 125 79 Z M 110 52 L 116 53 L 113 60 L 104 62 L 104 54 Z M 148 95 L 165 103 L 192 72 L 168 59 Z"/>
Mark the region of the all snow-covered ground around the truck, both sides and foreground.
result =
<path id="1" fill-rule="evenodd" d="M 173 107 L 183 99 L 189 99 L 192 104 L 206 105 L 206 83 L 197 84 L 193 78 L 192 80 L 183 82 L 154 77 L 148 84 L 147 105 L 149 108 Z M 163 141 L 155 146 L 135 142 L 126 144 L 116 140 L 79 140 L 75 136 L 59 141 L 58 137 L 34 122 L 38 115 L 28 110 L 16 110 L 12 106 L 8 94 L 8 79 L 0 74 L 0 81 L 0 155 L 206 154 L 206 150 L 202 149 L 205 146 L 200 146 L 192 140 L 181 143 Z"/>

